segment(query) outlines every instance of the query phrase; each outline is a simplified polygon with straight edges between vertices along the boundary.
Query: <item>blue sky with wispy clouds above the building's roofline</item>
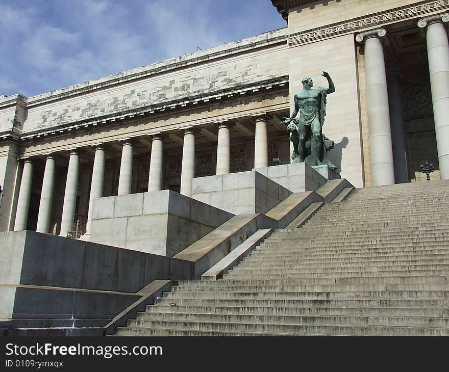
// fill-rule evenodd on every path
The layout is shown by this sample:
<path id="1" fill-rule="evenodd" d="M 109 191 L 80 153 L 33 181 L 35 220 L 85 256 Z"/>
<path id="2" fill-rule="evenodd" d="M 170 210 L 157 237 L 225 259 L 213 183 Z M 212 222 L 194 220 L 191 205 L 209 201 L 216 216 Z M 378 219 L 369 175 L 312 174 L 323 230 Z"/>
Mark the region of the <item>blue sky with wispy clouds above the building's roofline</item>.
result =
<path id="1" fill-rule="evenodd" d="M 270 0 L 0 0 L 0 95 L 31 97 L 285 26 Z"/>

